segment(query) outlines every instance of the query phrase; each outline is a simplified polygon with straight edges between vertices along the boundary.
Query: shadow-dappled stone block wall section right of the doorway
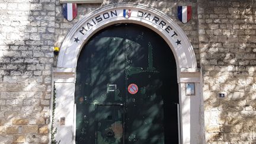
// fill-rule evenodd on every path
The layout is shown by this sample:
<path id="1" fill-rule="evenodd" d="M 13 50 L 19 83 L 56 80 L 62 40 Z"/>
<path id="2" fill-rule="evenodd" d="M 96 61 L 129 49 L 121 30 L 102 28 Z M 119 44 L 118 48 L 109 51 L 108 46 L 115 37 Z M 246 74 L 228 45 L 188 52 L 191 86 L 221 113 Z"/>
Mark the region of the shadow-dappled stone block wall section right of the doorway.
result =
<path id="1" fill-rule="evenodd" d="M 256 143 L 256 3 L 200 1 L 198 12 L 206 142 Z"/>

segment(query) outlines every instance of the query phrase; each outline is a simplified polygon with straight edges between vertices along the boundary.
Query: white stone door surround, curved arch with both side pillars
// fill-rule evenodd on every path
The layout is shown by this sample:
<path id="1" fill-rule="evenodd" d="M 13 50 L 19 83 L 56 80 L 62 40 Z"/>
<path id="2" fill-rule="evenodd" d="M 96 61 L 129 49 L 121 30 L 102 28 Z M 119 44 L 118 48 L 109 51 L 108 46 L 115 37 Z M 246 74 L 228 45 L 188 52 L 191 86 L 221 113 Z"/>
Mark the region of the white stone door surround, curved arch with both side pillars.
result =
<path id="1" fill-rule="evenodd" d="M 123 16 L 123 9 L 131 9 L 129 18 Z M 112 11 L 112 12 L 111 12 Z M 143 14 L 142 14 L 143 12 Z M 150 14 L 150 17 L 147 17 Z M 102 21 L 100 21 L 101 19 Z M 155 18 L 155 19 L 154 19 Z M 163 21 L 163 22 L 162 22 Z M 89 24 L 88 24 L 89 23 Z M 97 31 L 113 24 L 134 23 L 151 28 L 158 33 L 174 53 L 177 63 L 177 79 L 180 97 L 180 143 L 202 143 L 203 105 L 201 102 L 200 72 L 197 69 L 193 46 L 179 25 L 156 9 L 137 4 L 113 4 L 101 7 L 89 13 L 76 23 L 66 36 L 60 47 L 57 68 L 54 70 L 56 85 L 56 122 L 59 134 L 56 138 L 65 139 L 65 143 L 73 143 L 75 135 L 75 71 L 76 62 L 82 47 Z M 169 27 L 168 27 L 169 26 Z M 83 27 L 85 29 L 83 29 Z M 81 33 L 82 30 L 82 33 Z M 176 33 L 176 34 L 175 34 Z M 75 41 L 78 39 L 79 41 Z M 181 41 L 181 44 L 178 44 Z M 185 82 L 194 82 L 196 95 L 185 96 Z M 192 104 L 194 103 L 194 104 Z M 65 107 L 63 106 L 65 105 Z M 65 126 L 58 120 L 65 117 Z M 196 132 L 196 133 L 194 133 Z"/>

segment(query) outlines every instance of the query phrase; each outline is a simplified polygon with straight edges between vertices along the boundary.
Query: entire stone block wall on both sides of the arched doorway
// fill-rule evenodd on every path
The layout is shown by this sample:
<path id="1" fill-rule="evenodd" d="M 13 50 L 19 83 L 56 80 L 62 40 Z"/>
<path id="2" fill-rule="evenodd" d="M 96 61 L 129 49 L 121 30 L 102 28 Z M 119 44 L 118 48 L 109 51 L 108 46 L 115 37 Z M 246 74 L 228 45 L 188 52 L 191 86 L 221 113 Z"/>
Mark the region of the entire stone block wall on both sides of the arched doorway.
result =
<path id="1" fill-rule="evenodd" d="M 164 12 L 191 40 L 203 74 L 206 142 L 256 143 L 255 0 L 110 0 L 78 4 L 71 22 L 59 0 L 0 0 L 0 143 L 49 143 L 53 46 L 89 12 L 117 2 Z M 192 6 L 187 24 L 177 19 L 178 5 Z"/>

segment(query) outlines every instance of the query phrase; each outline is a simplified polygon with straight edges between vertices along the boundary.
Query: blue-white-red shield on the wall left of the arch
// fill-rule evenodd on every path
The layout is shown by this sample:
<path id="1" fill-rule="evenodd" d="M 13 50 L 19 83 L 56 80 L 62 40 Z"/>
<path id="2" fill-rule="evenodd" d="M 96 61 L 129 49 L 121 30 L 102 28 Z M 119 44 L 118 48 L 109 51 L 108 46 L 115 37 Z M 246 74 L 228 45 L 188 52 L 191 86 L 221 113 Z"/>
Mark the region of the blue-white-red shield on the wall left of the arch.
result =
<path id="1" fill-rule="evenodd" d="M 63 4 L 62 6 L 63 16 L 68 20 L 72 21 L 77 15 L 76 4 Z"/>

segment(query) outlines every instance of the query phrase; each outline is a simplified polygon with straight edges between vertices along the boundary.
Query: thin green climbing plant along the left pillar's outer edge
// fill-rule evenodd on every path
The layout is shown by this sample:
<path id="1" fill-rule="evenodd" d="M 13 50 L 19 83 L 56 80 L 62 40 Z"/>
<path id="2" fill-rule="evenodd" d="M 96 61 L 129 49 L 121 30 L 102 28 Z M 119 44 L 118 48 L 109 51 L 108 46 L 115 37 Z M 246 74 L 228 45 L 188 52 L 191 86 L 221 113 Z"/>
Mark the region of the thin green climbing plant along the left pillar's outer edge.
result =
<path id="1" fill-rule="evenodd" d="M 50 134 L 51 134 L 51 139 L 52 142 L 51 144 L 59 144 L 59 142 L 55 139 L 55 135 L 57 133 L 57 127 L 54 128 L 53 123 L 54 123 L 54 119 L 55 119 L 55 108 L 56 108 L 56 88 L 55 88 L 55 84 L 53 84 L 53 111 L 52 111 L 52 124 L 51 124 L 51 129 L 50 129 Z"/>

